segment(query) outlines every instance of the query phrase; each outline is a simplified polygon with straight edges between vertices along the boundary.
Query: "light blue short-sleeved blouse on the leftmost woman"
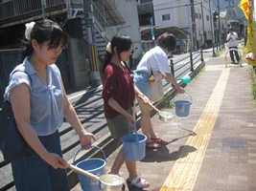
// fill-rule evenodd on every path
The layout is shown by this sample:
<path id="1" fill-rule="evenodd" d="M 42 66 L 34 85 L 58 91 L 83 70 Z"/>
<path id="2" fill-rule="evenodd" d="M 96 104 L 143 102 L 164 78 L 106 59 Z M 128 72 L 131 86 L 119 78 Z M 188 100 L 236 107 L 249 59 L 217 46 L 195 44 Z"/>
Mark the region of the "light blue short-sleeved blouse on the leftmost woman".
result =
<path id="1" fill-rule="evenodd" d="M 24 73 L 23 71 L 26 71 Z M 29 74 L 29 75 L 28 75 Z M 24 59 L 10 74 L 9 86 L 6 88 L 4 98 L 10 100 L 12 88 L 26 83 L 31 90 L 31 125 L 37 136 L 49 136 L 56 132 L 63 122 L 63 90 L 61 86 L 61 75 L 58 67 L 47 66 L 47 78 L 52 83 L 46 85 L 36 74 L 35 69 Z"/>

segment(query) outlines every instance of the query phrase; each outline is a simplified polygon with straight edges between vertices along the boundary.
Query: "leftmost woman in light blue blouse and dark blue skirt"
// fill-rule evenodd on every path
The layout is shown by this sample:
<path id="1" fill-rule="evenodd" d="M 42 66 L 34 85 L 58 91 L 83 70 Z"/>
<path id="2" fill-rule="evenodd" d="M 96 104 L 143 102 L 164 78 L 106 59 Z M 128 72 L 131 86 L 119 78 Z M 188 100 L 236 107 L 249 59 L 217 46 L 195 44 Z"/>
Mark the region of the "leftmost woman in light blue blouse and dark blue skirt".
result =
<path id="1" fill-rule="evenodd" d="M 12 162 L 16 190 L 69 191 L 66 160 L 58 128 L 63 117 L 90 147 L 95 136 L 81 125 L 70 104 L 55 62 L 67 42 L 66 33 L 51 20 L 26 24 L 21 64 L 10 74 L 4 98 L 12 103 L 17 128 L 28 143 L 25 158 Z"/>

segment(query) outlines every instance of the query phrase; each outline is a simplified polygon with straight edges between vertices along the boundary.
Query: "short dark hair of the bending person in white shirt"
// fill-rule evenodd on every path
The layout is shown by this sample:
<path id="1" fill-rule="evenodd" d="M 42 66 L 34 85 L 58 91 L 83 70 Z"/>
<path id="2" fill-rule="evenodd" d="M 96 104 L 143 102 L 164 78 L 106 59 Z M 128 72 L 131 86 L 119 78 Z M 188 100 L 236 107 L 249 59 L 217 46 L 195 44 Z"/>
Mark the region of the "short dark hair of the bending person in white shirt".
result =
<path id="1" fill-rule="evenodd" d="M 157 38 L 157 45 L 167 49 L 168 52 L 173 52 L 176 47 L 175 35 L 173 33 L 164 32 Z"/>

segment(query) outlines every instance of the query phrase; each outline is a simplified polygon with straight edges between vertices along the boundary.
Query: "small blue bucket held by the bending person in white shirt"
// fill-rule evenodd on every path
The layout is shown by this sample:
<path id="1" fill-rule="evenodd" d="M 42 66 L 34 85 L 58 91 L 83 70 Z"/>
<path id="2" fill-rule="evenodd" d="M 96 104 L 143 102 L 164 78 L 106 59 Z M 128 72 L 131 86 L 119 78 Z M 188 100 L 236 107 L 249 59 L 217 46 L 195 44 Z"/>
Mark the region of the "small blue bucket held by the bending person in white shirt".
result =
<path id="1" fill-rule="evenodd" d="M 190 105 L 192 104 L 192 97 L 188 93 L 184 93 L 190 97 L 190 100 L 175 100 L 175 115 L 177 117 L 188 117 L 190 112 Z"/>

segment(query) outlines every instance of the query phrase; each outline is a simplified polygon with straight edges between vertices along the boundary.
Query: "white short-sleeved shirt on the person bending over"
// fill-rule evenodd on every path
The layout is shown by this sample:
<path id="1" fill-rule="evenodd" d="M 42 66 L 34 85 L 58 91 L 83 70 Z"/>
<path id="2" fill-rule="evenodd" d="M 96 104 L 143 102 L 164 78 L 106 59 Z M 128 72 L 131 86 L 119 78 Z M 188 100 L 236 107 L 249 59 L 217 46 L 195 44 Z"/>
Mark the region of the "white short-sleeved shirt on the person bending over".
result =
<path id="1" fill-rule="evenodd" d="M 152 48 L 144 54 L 136 68 L 136 71 L 144 71 L 151 74 L 147 61 L 151 64 L 153 72 L 159 71 L 164 74 L 171 73 L 167 54 L 159 46 Z"/>

